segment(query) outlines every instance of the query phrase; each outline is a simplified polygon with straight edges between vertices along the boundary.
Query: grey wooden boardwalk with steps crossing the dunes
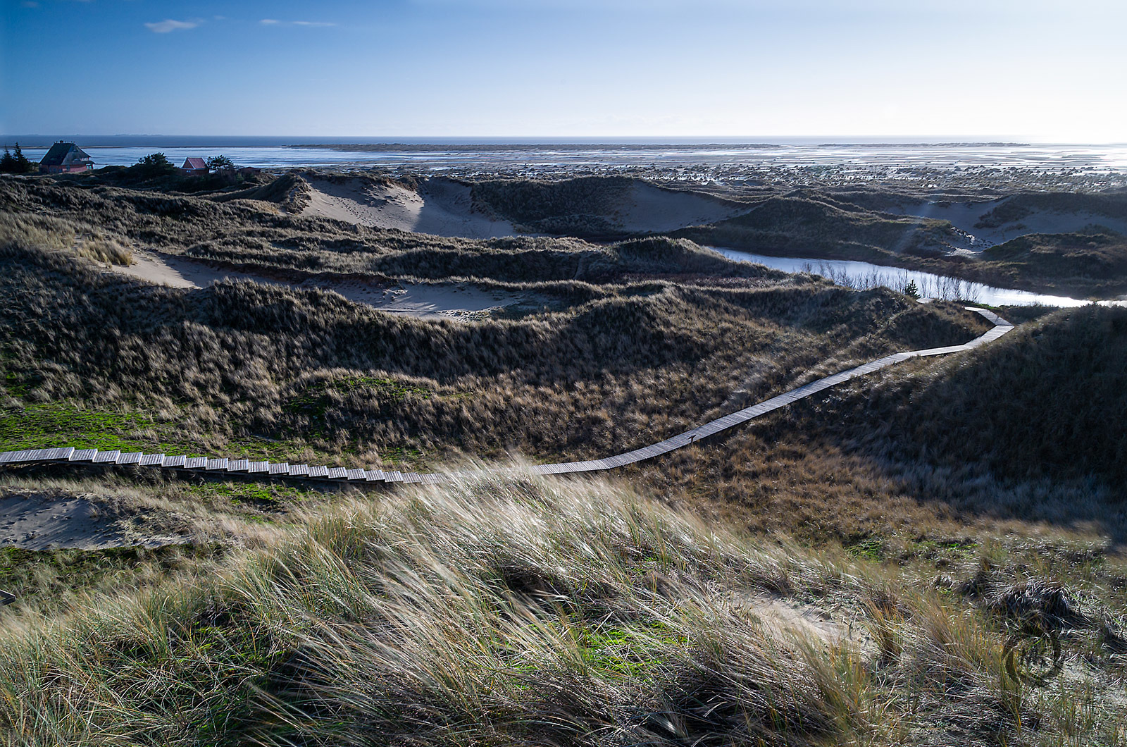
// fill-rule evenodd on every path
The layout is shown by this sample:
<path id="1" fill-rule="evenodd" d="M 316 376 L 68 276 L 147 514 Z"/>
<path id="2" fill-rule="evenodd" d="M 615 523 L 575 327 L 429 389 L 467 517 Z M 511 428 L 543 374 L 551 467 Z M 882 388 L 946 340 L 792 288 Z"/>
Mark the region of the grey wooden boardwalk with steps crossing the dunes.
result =
<path id="1" fill-rule="evenodd" d="M 668 454 L 676 449 L 684 448 L 694 441 L 709 436 L 728 430 L 736 425 L 746 423 L 773 410 L 784 407 L 792 402 L 809 397 L 810 395 L 828 389 L 829 387 L 844 384 L 859 376 L 866 376 L 882 368 L 894 366 L 911 358 L 925 358 L 930 355 L 947 355 L 965 350 L 973 350 L 979 345 L 997 340 L 1005 333 L 1013 329 L 1013 325 L 986 309 L 967 307 L 968 310 L 977 311 L 994 324 L 994 328 L 976 337 L 964 345 L 951 345 L 948 348 L 931 348 L 929 350 L 913 350 L 904 353 L 894 353 L 885 358 L 875 360 L 848 371 L 834 374 L 825 378 L 811 381 L 798 388 L 784 392 L 777 397 L 761 402 L 751 407 L 745 407 L 724 418 L 710 421 L 702 425 L 678 433 L 664 441 L 651 443 L 650 446 L 625 451 L 602 459 L 591 459 L 588 462 L 567 462 L 564 464 L 541 464 L 530 467 L 534 474 L 558 475 L 576 472 L 600 472 L 603 469 L 614 469 L 628 464 L 645 462 L 663 454 Z M 384 472 L 383 469 L 345 469 L 344 467 L 311 466 L 307 464 L 289 464 L 285 462 L 251 462 L 250 459 L 228 459 L 208 457 L 178 457 L 166 456 L 163 454 L 142 454 L 141 451 L 99 451 L 97 449 L 29 449 L 25 451 L 0 452 L 0 466 L 15 464 L 34 463 L 73 463 L 73 464 L 101 464 L 101 465 L 136 465 L 141 467 L 159 467 L 162 469 L 177 469 L 181 472 L 197 472 L 207 474 L 232 474 L 245 475 L 250 478 L 289 478 L 316 482 L 338 482 L 338 483 L 438 483 L 454 476 L 453 473 L 417 474 L 412 472 Z M 505 472 L 509 472 L 506 469 Z M 515 472 L 515 471 L 514 471 Z"/>

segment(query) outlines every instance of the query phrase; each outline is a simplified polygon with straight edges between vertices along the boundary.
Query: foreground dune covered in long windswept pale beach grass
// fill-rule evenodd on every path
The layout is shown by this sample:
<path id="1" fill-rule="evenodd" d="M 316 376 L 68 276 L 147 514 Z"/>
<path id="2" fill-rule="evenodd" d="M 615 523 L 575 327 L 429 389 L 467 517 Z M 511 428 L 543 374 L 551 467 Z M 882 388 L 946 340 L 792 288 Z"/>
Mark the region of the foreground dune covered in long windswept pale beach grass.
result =
<path id="1" fill-rule="evenodd" d="M 1029 609 L 1115 671 L 1099 607 L 1036 580 L 944 596 L 597 482 L 471 480 L 307 521 L 0 632 L 5 741 L 1065 745 L 1112 744 L 1125 715 L 1092 670 L 1008 674 Z M 799 601 L 836 608 L 833 632 L 787 632 Z"/>

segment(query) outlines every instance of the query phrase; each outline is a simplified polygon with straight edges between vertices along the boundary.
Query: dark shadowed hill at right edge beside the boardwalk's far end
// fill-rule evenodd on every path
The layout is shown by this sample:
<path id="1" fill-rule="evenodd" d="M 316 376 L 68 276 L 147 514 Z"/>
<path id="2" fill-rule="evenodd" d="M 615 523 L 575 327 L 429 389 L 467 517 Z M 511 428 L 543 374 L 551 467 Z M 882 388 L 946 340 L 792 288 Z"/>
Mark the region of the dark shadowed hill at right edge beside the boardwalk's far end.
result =
<path id="1" fill-rule="evenodd" d="M 980 462 L 1014 478 L 1127 478 L 1127 309 L 1088 306 L 1024 325 L 926 376 L 893 379 L 857 414 L 919 458 Z M 904 403 L 911 403 L 905 406 Z"/>

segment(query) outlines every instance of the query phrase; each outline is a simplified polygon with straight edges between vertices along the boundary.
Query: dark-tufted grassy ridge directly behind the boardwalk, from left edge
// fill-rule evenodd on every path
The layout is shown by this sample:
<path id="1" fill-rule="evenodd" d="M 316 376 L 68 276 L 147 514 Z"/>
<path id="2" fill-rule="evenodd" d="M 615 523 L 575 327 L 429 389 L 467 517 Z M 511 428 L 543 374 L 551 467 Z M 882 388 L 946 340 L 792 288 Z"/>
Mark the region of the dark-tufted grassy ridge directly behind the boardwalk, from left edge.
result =
<path id="1" fill-rule="evenodd" d="M 241 281 L 150 287 L 15 245 L 0 263 L 11 446 L 36 423 L 59 440 L 114 422 L 90 446 L 595 455 L 722 414 L 735 389 L 769 396 L 826 358 L 845 367 L 984 328 L 957 307 L 823 282 L 603 287 L 567 311 L 467 325 Z M 94 412 L 48 432 L 48 415 L 77 410 Z"/>

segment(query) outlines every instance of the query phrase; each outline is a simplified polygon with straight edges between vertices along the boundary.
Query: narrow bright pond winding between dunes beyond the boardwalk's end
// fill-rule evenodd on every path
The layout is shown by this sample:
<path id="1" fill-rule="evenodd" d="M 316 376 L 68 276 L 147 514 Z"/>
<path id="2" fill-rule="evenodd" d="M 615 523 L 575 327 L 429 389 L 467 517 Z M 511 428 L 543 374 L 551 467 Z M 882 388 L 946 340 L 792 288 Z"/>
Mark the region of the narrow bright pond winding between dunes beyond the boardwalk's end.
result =
<path id="1" fill-rule="evenodd" d="M 868 262 L 770 257 L 718 246 L 710 248 L 737 262 L 756 262 L 769 267 L 774 267 L 775 270 L 782 270 L 783 272 L 813 272 L 823 278 L 828 278 L 840 285 L 858 290 L 885 287 L 903 291 L 909 282 L 915 282 L 916 289 L 923 298 L 973 301 L 988 306 L 1032 306 L 1033 304 L 1041 304 L 1045 306 L 1068 307 L 1088 304 L 1088 301 L 1065 296 L 1047 296 L 1009 288 L 993 288 L 948 275 L 904 270 L 903 267 L 886 267 L 884 265 L 869 264 Z"/>

